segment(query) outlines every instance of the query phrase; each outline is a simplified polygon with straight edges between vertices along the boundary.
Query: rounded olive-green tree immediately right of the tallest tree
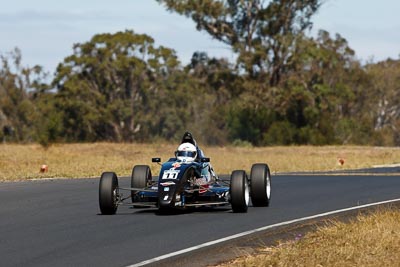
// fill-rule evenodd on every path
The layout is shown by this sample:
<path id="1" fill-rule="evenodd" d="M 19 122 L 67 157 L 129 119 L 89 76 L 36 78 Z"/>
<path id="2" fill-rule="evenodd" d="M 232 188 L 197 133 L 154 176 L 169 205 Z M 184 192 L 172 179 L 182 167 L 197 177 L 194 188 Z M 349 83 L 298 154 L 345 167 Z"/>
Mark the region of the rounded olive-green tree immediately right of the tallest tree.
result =
<path id="1" fill-rule="evenodd" d="M 349 142 L 355 129 L 340 125 L 359 115 L 366 80 L 354 51 L 339 34 L 332 38 L 322 30 L 316 39 L 299 39 L 297 49 L 278 110 L 299 129 L 297 143 Z"/>

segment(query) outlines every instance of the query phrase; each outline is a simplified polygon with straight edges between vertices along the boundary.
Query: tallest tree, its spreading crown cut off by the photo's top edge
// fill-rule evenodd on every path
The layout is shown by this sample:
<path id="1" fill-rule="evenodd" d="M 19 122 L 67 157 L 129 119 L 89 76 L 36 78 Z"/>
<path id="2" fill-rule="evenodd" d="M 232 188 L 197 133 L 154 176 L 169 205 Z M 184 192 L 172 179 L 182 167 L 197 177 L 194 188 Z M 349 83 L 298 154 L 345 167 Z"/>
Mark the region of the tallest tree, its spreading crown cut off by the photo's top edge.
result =
<path id="1" fill-rule="evenodd" d="M 284 122 L 277 125 L 290 129 L 292 134 L 295 132 L 293 129 L 307 125 L 308 121 L 301 118 L 305 106 L 290 100 L 293 88 L 287 82 L 296 71 L 296 64 L 301 61 L 299 46 L 308 39 L 304 32 L 311 28 L 311 17 L 321 1 L 158 2 L 170 11 L 190 17 L 198 30 L 204 30 L 213 38 L 230 45 L 238 54 L 234 82 L 234 98 L 237 100 L 231 101 L 231 106 L 225 109 L 231 141 L 239 139 L 259 145 L 278 140 L 266 137 L 268 141 L 263 141 L 274 120 Z M 304 88 L 297 88 L 302 94 L 306 93 Z M 288 105 L 293 105 L 293 108 Z M 279 135 L 277 127 L 273 132 Z M 282 142 L 292 140 L 298 138 L 291 136 Z"/>

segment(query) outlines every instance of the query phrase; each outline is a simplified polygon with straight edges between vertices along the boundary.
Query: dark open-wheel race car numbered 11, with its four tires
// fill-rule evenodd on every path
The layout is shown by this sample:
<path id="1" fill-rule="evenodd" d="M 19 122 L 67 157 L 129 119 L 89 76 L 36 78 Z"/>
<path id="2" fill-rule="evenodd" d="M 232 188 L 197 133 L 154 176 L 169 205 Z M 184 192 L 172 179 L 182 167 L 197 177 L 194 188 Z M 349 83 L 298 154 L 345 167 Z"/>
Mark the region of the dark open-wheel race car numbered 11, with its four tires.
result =
<path id="1" fill-rule="evenodd" d="M 153 207 L 159 211 L 194 207 L 230 205 L 233 212 L 247 212 L 251 199 L 255 207 L 269 206 L 271 200 L 271 174 L 267 164 L 257 163 L 246 171 L 235 170 L 230 179 L 214 177 L 207 180 L 204 170 L 210 168 L 210 158 L 182 162 L 175 158 L 161 164 L 158 178 L 153 179 L 148 165 L 132 169 L 131 187 L 120 187 L 114 172 L 104 172 L 100 177 L 99 205 L 101 214 L 115 214 L 118 206 L 134 208 Z M 123 194 L 128 192 L 128 194 Z"/>

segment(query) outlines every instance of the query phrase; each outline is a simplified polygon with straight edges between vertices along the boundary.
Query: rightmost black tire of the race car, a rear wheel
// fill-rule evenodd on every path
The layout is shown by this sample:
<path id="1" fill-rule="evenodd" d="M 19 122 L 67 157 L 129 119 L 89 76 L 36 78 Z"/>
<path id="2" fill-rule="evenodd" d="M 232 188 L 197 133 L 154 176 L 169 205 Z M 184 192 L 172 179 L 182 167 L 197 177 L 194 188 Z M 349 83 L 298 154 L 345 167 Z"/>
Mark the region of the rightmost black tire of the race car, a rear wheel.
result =
<path id="1" fill-rule="evenodd" d="M 271 201 L 271 173 L 267 164 L 253 164 L 250 172 L 250 186 L 253 206 L 268 207 Z"/>

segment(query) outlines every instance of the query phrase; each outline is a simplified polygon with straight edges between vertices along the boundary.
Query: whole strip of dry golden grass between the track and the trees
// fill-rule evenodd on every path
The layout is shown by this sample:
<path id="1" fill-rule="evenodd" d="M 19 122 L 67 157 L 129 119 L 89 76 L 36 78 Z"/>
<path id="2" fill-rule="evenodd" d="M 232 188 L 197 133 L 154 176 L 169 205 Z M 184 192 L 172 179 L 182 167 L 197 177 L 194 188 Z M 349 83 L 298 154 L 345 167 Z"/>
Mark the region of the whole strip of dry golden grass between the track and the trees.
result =
<path id="1" fill-rule="evenodd" d="M 99 177 L 103 171 L 129 176 L 133 165 L 148 164 L 153 175 L 159 167 L 152 157 L 167 160 L 177 144 L 59 144 L 48 149 L 40 145 L 0 145 L 0 181 L 44 177 Z M 292 147 L 202 147 L 219 174 L 234 169 L 249 170 L 256 162 L 266 162 L 271 171 L 321 171 L 372 167 L 400 161 L 400 148 L 356 146 Z M 345 160 L 344 165 L 338 159 Z M 39 173 L 42 164 L 47 173 Z"/>

